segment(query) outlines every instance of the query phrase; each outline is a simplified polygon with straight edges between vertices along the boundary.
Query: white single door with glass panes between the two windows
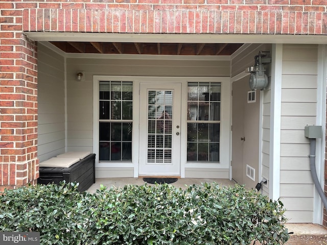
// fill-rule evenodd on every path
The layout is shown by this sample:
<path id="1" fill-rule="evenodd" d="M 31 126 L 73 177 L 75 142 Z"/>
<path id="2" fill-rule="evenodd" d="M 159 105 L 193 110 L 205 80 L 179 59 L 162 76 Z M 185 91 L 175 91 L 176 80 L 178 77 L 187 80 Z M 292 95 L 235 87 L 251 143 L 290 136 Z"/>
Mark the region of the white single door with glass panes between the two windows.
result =
<path id="1" fill-rule="evenodd" d="M 140 84 L 139 176 L 180 176 L 180 83 Z"/>

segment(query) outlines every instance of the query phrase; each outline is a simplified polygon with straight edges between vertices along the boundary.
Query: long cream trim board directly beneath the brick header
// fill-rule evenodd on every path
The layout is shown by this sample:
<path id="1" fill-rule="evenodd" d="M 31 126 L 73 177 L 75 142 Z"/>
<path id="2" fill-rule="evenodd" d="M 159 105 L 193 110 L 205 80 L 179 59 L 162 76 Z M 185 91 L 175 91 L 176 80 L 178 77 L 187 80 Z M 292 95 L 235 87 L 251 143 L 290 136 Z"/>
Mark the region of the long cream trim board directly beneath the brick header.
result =
<path id="1" fill-rule="evenodd" d="M 327 44 L 324 35 L 261 35 L 261 34 L 132 34 L 24 32 L 34 41 L 92 42 L 164 42 L 164 43 L 315 43 Z"/>

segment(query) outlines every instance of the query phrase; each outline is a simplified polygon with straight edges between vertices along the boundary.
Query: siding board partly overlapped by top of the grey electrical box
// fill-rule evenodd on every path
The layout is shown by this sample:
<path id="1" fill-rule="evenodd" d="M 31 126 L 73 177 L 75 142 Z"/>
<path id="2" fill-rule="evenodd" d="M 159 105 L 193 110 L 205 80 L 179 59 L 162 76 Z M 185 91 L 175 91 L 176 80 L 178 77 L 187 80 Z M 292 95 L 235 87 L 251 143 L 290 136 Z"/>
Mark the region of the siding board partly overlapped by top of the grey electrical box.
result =
<path id="1" fill-rule="evenodd" d="M 315 116 L 282 116 L 281 129 L 303 130 L 307 125 L 316 124 Z"/>

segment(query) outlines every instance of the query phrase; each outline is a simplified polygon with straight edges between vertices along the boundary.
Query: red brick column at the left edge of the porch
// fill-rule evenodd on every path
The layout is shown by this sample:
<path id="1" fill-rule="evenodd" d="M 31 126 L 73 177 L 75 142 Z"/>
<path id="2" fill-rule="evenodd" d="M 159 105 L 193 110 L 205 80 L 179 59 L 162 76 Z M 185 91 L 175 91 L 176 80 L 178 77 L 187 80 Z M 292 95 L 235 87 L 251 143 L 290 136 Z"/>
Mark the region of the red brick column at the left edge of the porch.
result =
<path id="1" fill-rule="evenodd" d="M 22 34 L 22 10 L 0 15 L 0 191 L 38 178 L 37 48 Z"/>

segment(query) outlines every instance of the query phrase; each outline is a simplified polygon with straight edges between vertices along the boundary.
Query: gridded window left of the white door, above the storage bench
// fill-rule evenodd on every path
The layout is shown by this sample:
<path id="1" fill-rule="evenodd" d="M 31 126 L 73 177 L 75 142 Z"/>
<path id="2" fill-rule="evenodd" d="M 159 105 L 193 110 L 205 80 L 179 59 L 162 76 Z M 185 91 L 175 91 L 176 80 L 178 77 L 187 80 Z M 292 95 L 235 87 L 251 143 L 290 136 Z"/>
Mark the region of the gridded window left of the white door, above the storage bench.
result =
<path id="1" fill-rule="evenodd" d="M 132 82 L 99 83 L 99 160 L 132 161 Z"/>

